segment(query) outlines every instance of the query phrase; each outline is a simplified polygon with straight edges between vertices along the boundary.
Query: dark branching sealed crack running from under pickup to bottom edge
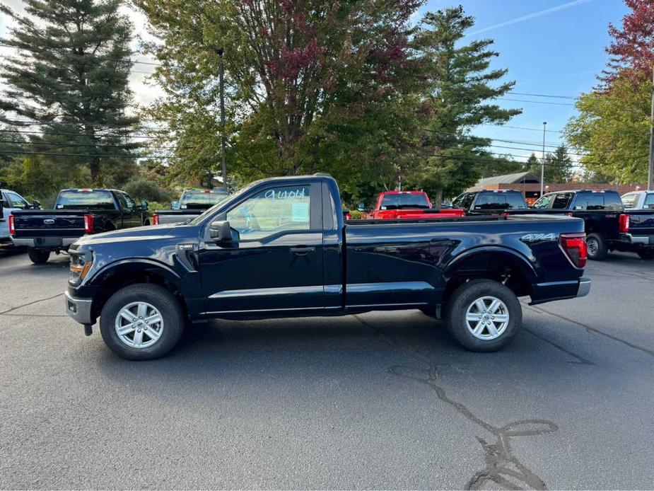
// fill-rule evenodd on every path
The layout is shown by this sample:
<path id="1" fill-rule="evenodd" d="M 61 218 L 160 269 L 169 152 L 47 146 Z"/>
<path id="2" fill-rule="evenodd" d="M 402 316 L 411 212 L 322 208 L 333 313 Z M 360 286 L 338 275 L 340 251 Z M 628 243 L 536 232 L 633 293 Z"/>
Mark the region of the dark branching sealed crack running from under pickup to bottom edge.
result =
<path id="1" fill-rule="evenodd" d="M 380 342 L 391 345 L 400 352 L 419 363 L 419 366 L 393 365 L 386 369 L 388 374 L 423 383 L 436 393 L 436 396 L 443 403 L 450 405 L 460 415 L 470 422 L 477 424 L 495 437 L 494 443 L 477 436 L 477 441 L 484 450 L 484 469 L 475 473 L 467 482 L 466 489 L 478 490 L 486 483 L 495 483 L 507 490 L 546 490 L 547 485 L 542 478 L 539 478 L 525 464 L 520 462 L 518 457 L 513 455 L 510 440 L 514 437 L 533 437 L 547 433 L 556 432 L 559 427 L 547 420 L 518 420 L 510 422 L 502 427 L 496 427 L 477 416 L 465 404 L 450 398 L 445 389 L 438 385 L 438 364 L 432 361 L 428 355 L 419 352 L 414 347 L 406 345 L 397 338 L 385 333 L 381 328 L 368 323 L 360 316 L 354 316 L 360 323 L 373 330 Z"/>

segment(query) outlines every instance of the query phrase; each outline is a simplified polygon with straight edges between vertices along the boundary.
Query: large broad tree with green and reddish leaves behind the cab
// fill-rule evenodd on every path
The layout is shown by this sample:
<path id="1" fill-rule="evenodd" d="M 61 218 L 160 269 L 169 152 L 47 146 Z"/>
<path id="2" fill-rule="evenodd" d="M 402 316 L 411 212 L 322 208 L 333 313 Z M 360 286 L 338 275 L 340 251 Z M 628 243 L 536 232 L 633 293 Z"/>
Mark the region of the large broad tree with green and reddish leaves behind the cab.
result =
<path id="1" fill-rule="evenodd" d="M 219 168 L 218 71 L 226 70 L 229 172 L 328 171 L 352 194 L 411 165 L 419 64 L 409 18 L 421 0 L 137 0 L 163 64 L 165 122 L 180 175 Z"/>

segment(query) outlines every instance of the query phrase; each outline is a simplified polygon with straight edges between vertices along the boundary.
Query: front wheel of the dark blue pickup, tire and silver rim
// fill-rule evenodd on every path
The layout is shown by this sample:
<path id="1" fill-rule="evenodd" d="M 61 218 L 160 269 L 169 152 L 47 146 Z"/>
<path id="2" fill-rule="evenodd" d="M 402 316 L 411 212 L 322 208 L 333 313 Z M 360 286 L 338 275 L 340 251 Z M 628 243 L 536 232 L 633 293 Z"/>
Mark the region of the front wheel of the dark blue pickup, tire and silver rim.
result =
<path id="1" fill-rule="evenodd" d="M 100 313 L 100 333 L 119 357 L 163 357 L 184 330 L 184 314 L 170 291 L 156 284 L 133 284 L 110 296 Z"/>

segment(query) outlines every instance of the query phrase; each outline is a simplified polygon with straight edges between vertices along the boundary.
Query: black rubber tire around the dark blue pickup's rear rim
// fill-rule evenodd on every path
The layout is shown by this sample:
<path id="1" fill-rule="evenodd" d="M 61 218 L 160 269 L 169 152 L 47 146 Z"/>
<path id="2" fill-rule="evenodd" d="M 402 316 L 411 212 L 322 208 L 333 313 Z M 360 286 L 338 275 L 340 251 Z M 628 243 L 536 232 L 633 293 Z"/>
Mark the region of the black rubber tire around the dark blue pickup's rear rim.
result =
<path id="1" fill-rule="evenodd" d="M 503 324 L 496 321 L 500 323 L 500 328 L 496 329 L 500 334 L 493 339 L 476 337 L 468 328 L 468 321 L 466 320 L 468 309 L 473 308 L 472 305 L 477 299 L 482 299 L 485 296 L 499 299 L 503 303 L 503 307 L 498 312 L 506 309 L 506 313 L 508 313 L 506 325 L 502 327 Z M 486 314 L 479 314 L 480 318 L 482 315 L 485 316 Z M 487 322 L 489 325 L 492 322 L 494 328 L 498 325 L 490 320 L 490 316 L 488 316 Z M 473 279 L 458 287 L 450 297 L 448 304 L 445 306 L 445 323 L 452 337 L 467 350 L 493 352 L 502 350 L 518 334 L 520 325 L 522 325 L 522 308 L 518 297 L 503 284 L 491 279 Z M 479 335 L 484 336 L 484 331 L 486 331 L 486 336 L 491 336 L 491 332 L 486 326 L 481 327 Z"/>

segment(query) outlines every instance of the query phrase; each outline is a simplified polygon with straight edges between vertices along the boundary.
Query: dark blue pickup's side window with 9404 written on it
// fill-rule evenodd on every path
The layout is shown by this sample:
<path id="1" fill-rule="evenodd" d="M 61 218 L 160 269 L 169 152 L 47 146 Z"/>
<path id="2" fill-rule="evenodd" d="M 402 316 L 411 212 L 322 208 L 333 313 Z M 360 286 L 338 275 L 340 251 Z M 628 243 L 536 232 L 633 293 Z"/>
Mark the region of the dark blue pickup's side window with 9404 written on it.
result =
<path id="1" fill-rule="evenodd" d="M 258 192 L 227 212 L 227 220 L 241 241 L 274 233 L 310 229 L 310 187 L 271 187 Z"/>

